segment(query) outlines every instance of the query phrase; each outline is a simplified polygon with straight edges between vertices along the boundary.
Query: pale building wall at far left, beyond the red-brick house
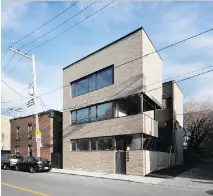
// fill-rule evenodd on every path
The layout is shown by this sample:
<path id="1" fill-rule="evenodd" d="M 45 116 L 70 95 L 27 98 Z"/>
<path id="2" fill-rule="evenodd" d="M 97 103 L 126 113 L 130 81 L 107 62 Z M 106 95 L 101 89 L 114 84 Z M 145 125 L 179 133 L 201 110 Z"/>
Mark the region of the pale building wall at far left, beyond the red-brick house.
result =
<path id="1" fill-rule="evenodd" d="M 10 120 L 8 117 L 1 117 L 1 150 L 10 150 L 11 145 Z"/>

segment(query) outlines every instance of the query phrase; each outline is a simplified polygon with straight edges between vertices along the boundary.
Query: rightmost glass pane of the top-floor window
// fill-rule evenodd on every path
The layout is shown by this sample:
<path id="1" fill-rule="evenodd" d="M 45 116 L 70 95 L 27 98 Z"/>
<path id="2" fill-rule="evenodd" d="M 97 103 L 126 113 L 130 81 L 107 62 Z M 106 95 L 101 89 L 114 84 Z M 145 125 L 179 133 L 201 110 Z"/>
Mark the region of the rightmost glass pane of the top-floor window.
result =
<path id="1" fill-rule="evenodd" d="M 112 84 L 112 68 L 101 71 L 97 74 L 97 88 L 103 88 Z"/>

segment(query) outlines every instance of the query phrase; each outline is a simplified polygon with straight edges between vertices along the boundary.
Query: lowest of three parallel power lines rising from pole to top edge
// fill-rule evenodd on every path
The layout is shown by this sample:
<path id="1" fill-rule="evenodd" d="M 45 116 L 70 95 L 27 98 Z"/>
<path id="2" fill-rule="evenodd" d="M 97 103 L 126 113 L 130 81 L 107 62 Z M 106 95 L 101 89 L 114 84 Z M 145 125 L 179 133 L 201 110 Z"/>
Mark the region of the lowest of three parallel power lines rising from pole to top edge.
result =
<path id="1" fill-rule="evenodd" d="M 55 39 L 56 37 L 58 37 L 58 36 L 64 34 L 65 32 L 69 31 L 70 29 L 74 28 L 75 26 L 81 24 L 82 22 L 84 22 L 84 21 L 87 20 L 88 18 L 92 17 L 93 15 L 97 14 L 97 13 L 100 12 L 101 10 L 105 9 L 106 7 L 108 7 L 108 6 L 109 6 L 110 4 L 112 4 L 113 2 L 114 2 L 114 1 L 108 3 L 107 5 L 103 6 L 102 8 L 100 8 L 99 10 L 97 10 L 96 12 L 94 12 L 93 14 L 91 14 L 91 15 L 89 15 L 88 17 L 84 18 L 83 20 L 77 22 L 76 24 L 74 24 L 73 26 L 69 27 L 68 29 L 66 29 L 66 30 L 62 31 L 61 33 L 57 34 L 56 36 L 54 36 L 54 37 L 52 37 L 52 38 L 46 40 L 45 42 L 39 44 L 38 46 L 36 46 L 36 47 L 34 47 L 34 48 L 28 50 L 27 53 L 28 53 L 28 52 L 31 52 L 31 51 L 33 51 L 33 50 L 39 48 L 39 47 L 41 47 L 42 45 L 48 43 L 49 41 Z"/>

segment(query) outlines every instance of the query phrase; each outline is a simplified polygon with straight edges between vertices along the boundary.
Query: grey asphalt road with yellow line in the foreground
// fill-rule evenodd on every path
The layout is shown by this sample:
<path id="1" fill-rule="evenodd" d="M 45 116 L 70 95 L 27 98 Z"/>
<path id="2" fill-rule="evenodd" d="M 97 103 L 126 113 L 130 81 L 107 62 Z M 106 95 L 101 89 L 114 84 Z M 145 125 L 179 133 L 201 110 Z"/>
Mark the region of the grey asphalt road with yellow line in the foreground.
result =
<path id="1" fill-rule="evenodd" d="M 1 170 L 2 196 L 210 196 L 204 191 L 56 173 Z M 213 189 L 213 188 L 212 188 Z"/>

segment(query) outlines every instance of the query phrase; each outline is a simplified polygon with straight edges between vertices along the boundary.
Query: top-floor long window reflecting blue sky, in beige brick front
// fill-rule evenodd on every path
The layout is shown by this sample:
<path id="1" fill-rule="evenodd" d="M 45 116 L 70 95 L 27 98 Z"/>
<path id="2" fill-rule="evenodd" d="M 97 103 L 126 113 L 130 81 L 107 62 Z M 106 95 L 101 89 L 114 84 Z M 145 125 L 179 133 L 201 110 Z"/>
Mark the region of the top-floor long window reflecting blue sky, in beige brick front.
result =
<path id="1" fill-rule="evenodd" d="M 76 82 L 72 82 L 72 97 L 83 95 L 114 83 L 113 66 L 93 73 Z"/>

